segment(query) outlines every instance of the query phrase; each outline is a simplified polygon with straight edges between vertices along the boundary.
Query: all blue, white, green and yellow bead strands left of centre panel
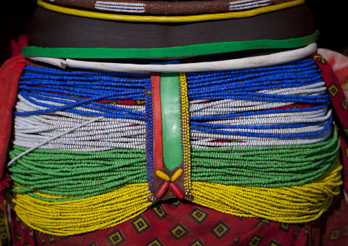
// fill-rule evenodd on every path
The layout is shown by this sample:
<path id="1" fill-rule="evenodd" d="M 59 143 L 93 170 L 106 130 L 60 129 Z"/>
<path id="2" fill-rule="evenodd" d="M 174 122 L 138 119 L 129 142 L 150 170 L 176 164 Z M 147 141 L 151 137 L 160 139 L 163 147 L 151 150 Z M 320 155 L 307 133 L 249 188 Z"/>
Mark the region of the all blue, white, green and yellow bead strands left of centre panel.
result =
<path id="1" fill-rule="evenodd" d="M 25 67 L 11 158 L 104 117 L 12 164 L 16 186 L 10 202 L 27 225 L 66 236 L 112 227 L 149 208 L 142 104 L 146 82 L 148 74 Z M 120 105 L 119 100 L 136 104 Z"/>

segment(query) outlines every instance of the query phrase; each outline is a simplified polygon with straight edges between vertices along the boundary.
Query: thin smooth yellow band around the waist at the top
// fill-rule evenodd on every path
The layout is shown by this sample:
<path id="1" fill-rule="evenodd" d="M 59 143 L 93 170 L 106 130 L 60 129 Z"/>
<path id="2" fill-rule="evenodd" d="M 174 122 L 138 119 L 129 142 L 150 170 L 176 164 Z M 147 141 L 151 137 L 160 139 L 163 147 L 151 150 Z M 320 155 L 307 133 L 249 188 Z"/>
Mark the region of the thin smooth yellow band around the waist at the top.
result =
<path id="1" fill-rule="evenodd" d="M 303 5 L 305 0 L 295 0 L 287 3 L 280 3 L 277 5 L 269 5 L 262 8 L 256 8 L 253 10 L 240 11 L 240 12 L 225 12 L 219 14 L 197 14 L 188 16 L 137 16 L 137 15 L 125 15 L 125 14 L 108 14 L 101 12 L 92 12 L 86 10 L 77 10 L 73 8 L 66 8 L 51 3 L 46 3 L 42 0 L 38 0 L 38 5 L 47 10 L 60 12 L 62 14 L 71 14 L 75 16 L 82 16 L 94 19 L 103 19 L 110 21 L 140 21 L 140 22 L 195 22 L 195 21 L 212 21 L 222 19 L 238 19 L 256 16 L 258 14 L 264 14 L 268 12 L 274 12 L 277 10 L 284 10 L 286 8 L 293 8 L 298 5 Z"/>

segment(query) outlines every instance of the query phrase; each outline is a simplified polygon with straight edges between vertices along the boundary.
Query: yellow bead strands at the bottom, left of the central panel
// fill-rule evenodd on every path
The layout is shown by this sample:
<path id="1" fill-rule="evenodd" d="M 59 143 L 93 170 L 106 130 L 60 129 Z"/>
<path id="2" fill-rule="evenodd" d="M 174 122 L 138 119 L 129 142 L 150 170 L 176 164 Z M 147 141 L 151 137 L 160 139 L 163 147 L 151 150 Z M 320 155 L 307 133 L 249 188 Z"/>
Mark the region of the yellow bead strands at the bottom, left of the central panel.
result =
<path id="1" fill-rule="evenodd" d="M 35 193 L 42 197 L 57 195 Z M 35 230 L 57 236 L 68 236 L 103 230 L 119 225 L 147 210 L 147 183 L 129 184 L 103 195 L 73 201 L 49 202 L 26 194 L 12 194 L 10 205 L 24 223 Z"/>

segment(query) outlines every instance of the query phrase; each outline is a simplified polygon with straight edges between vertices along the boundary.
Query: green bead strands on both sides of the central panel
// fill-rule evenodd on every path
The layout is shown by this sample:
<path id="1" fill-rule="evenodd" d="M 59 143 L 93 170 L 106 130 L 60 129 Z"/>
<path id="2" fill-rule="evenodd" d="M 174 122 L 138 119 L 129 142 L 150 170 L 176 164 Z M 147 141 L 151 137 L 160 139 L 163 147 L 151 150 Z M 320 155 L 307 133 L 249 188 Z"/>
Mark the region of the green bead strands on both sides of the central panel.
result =
<path id="1" fill-rule="evenodd" d="M 235 186 L 296 186 L 332 167 L 339 152 L 337 131 L 322 143 L 272 147 L 191 150 L 191 180 Z M 13 146 L 10 158 L 27 150 Z M 70 201 L 100 195 L 127 184 L 147 182 L 146 151 L 52 151 L 36 149 L 9 168 L 18 188 L 44 201 Z M 49 199 L 34 194 L 69 196 Z"/>

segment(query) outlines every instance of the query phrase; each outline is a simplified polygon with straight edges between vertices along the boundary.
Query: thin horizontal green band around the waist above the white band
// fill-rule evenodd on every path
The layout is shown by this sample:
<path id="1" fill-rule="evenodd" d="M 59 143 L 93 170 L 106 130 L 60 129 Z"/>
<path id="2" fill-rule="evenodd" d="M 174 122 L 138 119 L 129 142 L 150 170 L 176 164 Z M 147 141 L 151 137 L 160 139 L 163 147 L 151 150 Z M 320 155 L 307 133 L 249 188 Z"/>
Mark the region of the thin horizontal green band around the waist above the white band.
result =
<path id="1" fill-rule="evenodd" d="M 43 48 L 23 47 L 23 56 L 49 58 L 179 58 L 202 56 L 216 53 L 244 51 L 248 49 L 289 49 L 304 47 L 319 38 L 319 31 L 301 38 L 285 40 L 247 40 L 234 42 L 212 42 L 208 44 L 187 45 L 154 49 L 112 49 L 112 48 Z"/>

